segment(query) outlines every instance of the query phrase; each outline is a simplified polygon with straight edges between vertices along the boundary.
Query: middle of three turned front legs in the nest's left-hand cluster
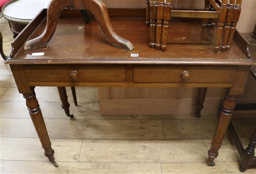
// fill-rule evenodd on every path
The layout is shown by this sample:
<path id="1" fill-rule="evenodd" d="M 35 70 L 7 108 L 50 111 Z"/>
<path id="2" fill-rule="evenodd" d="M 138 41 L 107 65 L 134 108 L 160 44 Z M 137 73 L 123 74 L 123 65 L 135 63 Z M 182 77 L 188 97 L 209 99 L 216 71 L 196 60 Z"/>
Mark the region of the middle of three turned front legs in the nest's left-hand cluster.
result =
<path id="1" fill-rule="evenodd" d="M 157 0 L 157 20 L 155 32 L 155 49 L 161 49 L 162 45 L 162 23 L 164 15 L 164 0 Z"/>

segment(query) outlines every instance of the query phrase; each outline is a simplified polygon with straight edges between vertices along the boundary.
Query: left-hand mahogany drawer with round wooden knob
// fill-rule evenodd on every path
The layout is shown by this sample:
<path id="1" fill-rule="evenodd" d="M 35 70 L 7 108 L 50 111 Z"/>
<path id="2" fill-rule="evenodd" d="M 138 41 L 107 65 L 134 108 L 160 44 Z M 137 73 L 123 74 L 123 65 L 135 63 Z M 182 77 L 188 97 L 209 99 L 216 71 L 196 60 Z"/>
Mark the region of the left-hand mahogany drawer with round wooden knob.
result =
<path id="1" fill-rule="evenodd" d="M 125 66 L 24 66 L 29 82 L 125 82 Z"/>

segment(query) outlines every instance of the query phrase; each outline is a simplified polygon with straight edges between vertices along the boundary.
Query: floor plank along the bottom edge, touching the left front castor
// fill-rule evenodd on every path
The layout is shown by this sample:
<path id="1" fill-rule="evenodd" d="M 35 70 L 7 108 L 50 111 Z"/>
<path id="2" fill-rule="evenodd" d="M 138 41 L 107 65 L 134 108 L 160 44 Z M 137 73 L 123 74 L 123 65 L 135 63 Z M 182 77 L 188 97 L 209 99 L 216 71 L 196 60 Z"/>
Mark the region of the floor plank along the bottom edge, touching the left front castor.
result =
<path id="1" fill-rule="evenodd" d="M 1 174 L 161 174 L 160 164 L 0 161 Z"/>

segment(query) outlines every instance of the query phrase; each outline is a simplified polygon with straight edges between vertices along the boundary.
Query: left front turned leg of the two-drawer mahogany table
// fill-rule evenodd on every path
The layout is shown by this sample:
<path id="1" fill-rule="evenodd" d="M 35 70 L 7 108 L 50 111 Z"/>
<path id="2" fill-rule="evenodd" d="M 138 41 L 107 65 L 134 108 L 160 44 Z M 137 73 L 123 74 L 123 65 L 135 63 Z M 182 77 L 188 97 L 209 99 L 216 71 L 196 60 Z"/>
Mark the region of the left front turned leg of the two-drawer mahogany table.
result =
<path id="1" fill-rule="evenodd" d="M 54 150 L 51 147 L 51 141 L 49 139 L 45 122 L 36 99 L 35 94 L 23 94 L 26 99 L 27 109 L 29 111 L 31 120 L 33 121 L 35 130 L 38 134 L 42 147 L 45 151 L 45 156 L 49 159 L 55 167 L 58 167 L 58 164 L 54 161 Z"/>

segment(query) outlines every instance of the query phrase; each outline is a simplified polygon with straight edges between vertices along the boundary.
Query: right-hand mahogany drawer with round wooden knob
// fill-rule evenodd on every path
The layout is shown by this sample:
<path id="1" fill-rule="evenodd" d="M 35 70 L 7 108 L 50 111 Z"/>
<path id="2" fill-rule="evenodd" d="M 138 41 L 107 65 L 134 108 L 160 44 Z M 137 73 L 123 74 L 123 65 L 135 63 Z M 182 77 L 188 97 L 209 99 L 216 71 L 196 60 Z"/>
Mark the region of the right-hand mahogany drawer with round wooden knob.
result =
<path id="1" fill-rule="evenodd" d="M 135 83 L 233 83 L 236 67 L 134 66 Z"/>

